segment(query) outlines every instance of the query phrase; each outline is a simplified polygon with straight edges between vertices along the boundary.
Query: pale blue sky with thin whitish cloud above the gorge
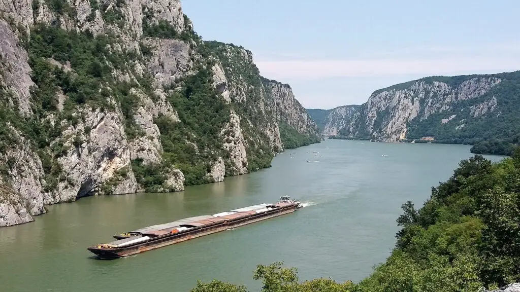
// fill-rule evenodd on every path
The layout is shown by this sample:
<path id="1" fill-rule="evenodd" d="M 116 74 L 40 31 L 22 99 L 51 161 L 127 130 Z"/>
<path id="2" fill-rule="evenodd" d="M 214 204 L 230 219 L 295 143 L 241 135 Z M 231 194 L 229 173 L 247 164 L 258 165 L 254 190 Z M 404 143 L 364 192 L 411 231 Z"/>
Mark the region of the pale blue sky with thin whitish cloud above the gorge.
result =
<path id="1" fill-rule="evenodd" d="M 520 1 L 181 0 L 205 41 L 242 45 L 305 108 L 432 75 L 520 70 Z"/>

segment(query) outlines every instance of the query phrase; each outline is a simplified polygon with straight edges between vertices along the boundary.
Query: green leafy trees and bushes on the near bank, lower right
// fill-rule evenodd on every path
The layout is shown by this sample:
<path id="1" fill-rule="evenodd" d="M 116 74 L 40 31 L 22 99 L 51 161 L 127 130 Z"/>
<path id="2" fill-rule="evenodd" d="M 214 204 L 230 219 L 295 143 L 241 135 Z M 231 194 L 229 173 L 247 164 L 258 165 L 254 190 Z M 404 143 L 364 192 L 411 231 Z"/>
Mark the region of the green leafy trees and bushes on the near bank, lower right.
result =
<path id="1" fill-rule="evenodd" d="M 402 209 L 392 255 L 360 283 L 299 283 L 281 263 L 259 265 L 254 278 L 262 292 L 476 292 L 520 281 L 520 150 L 499 163 L 463 160 L 422 208 L 406 202 Z M 213 281 L 192 290 L 209 291 L 247 289 Z"/>

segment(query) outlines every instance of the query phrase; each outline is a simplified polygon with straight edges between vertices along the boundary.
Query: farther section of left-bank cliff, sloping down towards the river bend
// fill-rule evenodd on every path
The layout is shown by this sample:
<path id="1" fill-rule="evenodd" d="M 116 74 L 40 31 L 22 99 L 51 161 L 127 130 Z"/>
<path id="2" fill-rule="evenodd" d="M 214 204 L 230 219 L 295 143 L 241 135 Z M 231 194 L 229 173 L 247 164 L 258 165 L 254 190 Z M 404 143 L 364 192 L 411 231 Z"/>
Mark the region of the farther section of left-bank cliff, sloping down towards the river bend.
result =
<path id="1" fill-rule="evenodd" d="M 271 149 L 278 152 L 321 141 L 318 126 L 296 100 L 291 87 L 262 77 L 251 51 L 214 41 L 206 45 L 222 62 L 229 81 L 229 85 L 221 86 L 223 95 L 229 92 L 226 97 L 232 101 L 232 108 L 249 121 L 242 126 L 248 145 L 262 147 L 262 136 L 266 136 Z M 256 127 L 250 127 L 251 123 Z"/>

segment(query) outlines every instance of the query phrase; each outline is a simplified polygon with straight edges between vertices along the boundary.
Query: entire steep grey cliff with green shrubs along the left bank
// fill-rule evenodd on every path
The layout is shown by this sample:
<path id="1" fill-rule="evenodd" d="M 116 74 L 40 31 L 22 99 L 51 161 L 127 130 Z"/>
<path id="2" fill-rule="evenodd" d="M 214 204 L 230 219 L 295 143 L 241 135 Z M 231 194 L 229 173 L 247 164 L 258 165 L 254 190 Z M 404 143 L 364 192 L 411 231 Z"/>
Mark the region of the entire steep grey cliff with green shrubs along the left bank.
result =
<path id="1" fill-rule="evenodd" d="M 268 167 L 280 127 L 319 141 L 290 87 L 263 80 L 176 0 L 0 2 L 0 226 Z"/>

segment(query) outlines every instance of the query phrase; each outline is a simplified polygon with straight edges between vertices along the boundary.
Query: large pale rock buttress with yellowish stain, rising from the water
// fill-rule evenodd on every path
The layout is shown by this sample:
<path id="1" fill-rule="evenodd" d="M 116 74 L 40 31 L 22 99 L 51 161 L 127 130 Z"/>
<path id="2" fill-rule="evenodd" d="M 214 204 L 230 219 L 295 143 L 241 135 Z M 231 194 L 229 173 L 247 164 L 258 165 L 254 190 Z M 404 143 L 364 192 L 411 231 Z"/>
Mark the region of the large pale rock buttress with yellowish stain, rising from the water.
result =
<path id="1" fill-rule="evenodd" d="M 69 126 L 64 132 L 63 147 L 69 149 L 59 158 L 68 179 L 59 184 L 54 197 L 46 204 L 71 202 L 77 197 L 93 195 L 110 182 L 111 193 L 132 193 L 137 190 L 133 172 L 118 171 L 131 167 L 130 151 L 121 116 L 99 109 L 85 109 L 85 122 Z M 89 129 L 88 133 L 85 128 Z M 56 141 L 58 143 L 58 141 Z"/>

